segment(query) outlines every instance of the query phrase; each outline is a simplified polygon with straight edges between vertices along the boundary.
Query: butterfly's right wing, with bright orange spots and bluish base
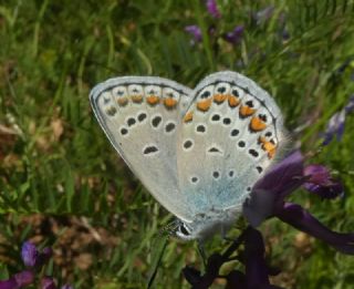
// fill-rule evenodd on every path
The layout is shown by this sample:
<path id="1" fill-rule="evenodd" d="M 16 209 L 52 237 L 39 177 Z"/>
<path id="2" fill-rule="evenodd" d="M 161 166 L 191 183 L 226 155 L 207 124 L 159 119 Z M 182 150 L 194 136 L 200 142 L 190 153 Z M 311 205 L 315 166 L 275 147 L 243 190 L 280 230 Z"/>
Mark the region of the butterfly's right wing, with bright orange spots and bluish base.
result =
<path id="1" fill-rule="evenodd" d="M 192 93 L 178 134 L 179 188 L 194 214 L 241 210 L 284 140 L 273 99 L 250 79 L 218 72 Z"/>

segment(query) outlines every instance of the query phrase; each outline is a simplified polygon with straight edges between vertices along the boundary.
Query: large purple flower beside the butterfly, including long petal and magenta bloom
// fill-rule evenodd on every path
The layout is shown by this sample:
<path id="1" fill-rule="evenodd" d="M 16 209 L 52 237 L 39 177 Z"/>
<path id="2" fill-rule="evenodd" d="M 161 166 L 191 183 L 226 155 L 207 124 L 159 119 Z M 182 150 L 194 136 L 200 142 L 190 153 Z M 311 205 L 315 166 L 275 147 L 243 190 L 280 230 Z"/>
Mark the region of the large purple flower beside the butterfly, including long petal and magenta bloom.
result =
<path id="1" fill-rule="evenodd" d="M 337 250 L 354 255 L 354 234 L 330 230 L 300 205 L 289 204 L 284 198 L 300 186 L 317 185 L 321 196 L 339 195 L 336 183 L 323 167 L 303 168 L 303 156 L 292 153 L 274 165 L 253 187 L 251 197 L 243 204 L 243 215 L 252 226 L 275 216 L 291 226 L 322 239 Z"/>

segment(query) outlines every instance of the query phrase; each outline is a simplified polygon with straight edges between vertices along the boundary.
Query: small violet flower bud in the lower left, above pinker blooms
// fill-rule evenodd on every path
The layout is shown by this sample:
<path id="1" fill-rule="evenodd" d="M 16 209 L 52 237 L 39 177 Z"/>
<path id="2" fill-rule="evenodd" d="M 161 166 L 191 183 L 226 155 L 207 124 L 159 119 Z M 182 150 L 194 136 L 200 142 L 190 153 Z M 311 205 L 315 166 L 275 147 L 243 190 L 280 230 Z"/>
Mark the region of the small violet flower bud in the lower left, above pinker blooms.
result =
<path id="1" fill-rule="evenodd" d="M 27 267 L 40 268 L 52 257 L 52 249 L 46 247 L 40 252 L 32 242 L 25 241 L 22 245 L 21 256 Z"/>

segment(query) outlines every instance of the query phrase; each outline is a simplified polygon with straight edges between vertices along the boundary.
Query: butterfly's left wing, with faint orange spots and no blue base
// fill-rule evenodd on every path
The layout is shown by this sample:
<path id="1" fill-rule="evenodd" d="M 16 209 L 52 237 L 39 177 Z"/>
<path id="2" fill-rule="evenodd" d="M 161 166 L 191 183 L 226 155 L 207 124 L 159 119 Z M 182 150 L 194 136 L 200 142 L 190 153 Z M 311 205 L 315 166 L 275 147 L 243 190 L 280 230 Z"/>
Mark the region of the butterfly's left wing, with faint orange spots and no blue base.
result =
<path id="1" fill-rule="evenodd" d="M 90 94 L 114 148 L 153 196 L 186 221 L 190 216 L 178 189 L 176 143 L 190 93 L 166 79 L 124 76 L 96 85 Z"/>

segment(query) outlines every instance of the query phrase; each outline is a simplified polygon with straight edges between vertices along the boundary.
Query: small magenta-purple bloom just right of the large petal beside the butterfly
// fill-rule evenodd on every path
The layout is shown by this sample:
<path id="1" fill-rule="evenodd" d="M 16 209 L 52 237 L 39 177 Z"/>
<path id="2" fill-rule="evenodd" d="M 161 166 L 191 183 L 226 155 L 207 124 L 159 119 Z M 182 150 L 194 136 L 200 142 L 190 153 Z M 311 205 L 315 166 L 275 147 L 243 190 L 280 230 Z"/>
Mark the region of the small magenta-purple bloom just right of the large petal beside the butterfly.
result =
<path id="1" fill-rule="evenodd" d="M 304 168 L 304 176 L 309 179 L 304 188 L 324 198 L 335 198 L 343 195 L 343 186 L 331 177 L 330 171 L 322 165 L 309 165 Z"/>

